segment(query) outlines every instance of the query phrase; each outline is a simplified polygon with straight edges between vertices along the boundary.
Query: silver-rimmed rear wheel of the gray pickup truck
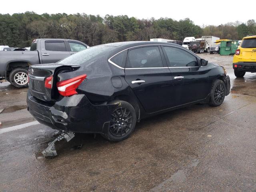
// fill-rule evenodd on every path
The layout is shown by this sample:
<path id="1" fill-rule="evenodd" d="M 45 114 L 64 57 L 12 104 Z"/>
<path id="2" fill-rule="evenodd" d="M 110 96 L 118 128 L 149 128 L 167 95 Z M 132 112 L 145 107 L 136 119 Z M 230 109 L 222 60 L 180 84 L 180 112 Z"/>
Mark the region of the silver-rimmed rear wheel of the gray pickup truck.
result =
<path id="1" fill-rule="evenodd" d="M 28 70 L 16 68 L 10 72 L 10 83 L 17 88 L 28 87 Z"/>

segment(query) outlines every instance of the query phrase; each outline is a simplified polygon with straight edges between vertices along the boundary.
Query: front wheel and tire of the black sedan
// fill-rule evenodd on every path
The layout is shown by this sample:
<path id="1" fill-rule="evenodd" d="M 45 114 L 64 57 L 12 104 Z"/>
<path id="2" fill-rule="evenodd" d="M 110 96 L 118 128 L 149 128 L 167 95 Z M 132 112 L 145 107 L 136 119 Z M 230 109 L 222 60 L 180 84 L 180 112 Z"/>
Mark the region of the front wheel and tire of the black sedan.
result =
<path id="1" fill-rule="evenodd" d="M 212 84 L 212 89 L 210 92 L 210 106 L 220 106 L 222 102 L 224 101 L 225 95 L 226 95 L 226 85 L 222 80 L 217 79 Z"/>

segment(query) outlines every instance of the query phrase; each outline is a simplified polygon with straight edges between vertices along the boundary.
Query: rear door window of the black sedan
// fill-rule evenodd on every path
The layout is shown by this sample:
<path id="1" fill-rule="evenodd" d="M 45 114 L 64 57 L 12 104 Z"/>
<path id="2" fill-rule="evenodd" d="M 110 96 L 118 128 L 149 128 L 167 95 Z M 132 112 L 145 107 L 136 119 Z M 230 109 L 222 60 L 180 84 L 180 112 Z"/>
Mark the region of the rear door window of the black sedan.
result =
<path id="1" fill-rule="evenodd" d="M 157 46 L 136 48 L 129 51 L 126 68 L 163 67 L 162 57 Z"/>

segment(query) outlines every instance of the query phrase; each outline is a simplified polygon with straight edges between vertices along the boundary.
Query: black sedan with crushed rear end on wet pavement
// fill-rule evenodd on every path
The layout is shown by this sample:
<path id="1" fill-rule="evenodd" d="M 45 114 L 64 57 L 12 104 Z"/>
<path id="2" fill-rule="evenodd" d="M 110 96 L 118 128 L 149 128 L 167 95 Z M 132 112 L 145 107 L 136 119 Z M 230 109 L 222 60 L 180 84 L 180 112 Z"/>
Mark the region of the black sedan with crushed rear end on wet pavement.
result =
<path id="1" fill-rule="evenodd" d="M 223 67 L 162 42 L 94 46 L 30 66 L 29 78 L 28 110 L 36 120 L 112 141 L 128 138 L 142 118 L 197 103 L 220 106 L 230 93 Z"/>

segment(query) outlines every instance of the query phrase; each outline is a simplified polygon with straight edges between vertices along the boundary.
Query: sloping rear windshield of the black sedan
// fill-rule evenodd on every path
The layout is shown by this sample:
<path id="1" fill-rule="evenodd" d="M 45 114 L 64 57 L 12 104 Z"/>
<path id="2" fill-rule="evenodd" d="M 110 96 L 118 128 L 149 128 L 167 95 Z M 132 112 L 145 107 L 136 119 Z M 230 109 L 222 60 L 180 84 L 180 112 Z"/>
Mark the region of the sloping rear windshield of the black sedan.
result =
<path id="1" fill-rule="evenodd" d="M 115 47 L 112 46 L 94 46 L 89 47 L 86 50 L 80 51 L 76 54 L 73 54 L 67 58 L 64 58 L 63 60 L 60 60 L 58 63 L 64 64 L 64 65 L 80 65 L 84 64 L 86 61 L 100 57 L 106 53 L 108 53 L 111 50 L 114 50 Z"/>

